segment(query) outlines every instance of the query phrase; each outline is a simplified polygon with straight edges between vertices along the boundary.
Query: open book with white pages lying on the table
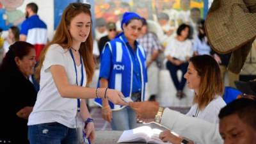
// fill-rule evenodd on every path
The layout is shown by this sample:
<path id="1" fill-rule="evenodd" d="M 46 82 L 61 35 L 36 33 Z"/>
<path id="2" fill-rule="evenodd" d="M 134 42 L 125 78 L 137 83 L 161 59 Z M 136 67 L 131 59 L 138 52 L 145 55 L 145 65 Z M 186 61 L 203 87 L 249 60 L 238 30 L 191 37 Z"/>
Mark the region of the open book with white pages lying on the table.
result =
<path id="1" fill-rule="evenodd" d="M 117 143 L 143 141 L 146 143 L 170 144 L 164 143 L 159 139 L 160 129 L 152 129 L 149 126 L 137 127 L 135 129 L 127 130 L 122 133 Z"/>

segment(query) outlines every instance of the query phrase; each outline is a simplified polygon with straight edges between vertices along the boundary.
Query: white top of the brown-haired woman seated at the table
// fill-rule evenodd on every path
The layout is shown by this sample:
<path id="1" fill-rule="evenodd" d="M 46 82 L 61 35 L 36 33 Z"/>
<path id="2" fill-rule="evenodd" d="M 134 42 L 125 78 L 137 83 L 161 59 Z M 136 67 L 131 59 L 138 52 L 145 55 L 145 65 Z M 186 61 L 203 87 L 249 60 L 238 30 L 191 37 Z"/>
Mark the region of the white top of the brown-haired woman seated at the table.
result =
<path id="1" fill-rule="evenodd" d="M 220 109 L 224 106 L 226 106 L 226 102 L 222 99 L 221 96 L 216 96 L 216 98 L 207 104 L 207 106 L 202 111 L 198 109 L 198 104 L 193 104 L 186 115 L 194 116 L 206 120 L 207 122 L 218 124 L 218 115 L 220 113 Z M 196 109 L 198 109 L 197 112 Z M 197 116 L 196 113 L 198 113 Z"/>

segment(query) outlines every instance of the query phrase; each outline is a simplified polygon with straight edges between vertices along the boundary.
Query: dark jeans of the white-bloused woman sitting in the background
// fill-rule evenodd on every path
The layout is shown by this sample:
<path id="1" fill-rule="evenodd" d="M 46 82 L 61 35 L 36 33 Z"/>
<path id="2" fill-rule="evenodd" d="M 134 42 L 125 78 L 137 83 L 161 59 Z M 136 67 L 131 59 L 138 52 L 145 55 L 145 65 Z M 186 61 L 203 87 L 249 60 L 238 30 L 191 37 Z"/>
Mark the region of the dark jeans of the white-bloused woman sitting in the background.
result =
<path id="1" fill-rule="evenodd" d="M 168 70 L 170 72 L 170 75 L 172 77 L 172 81 L 173 81 L 173 84 L 174 84 L 176 90 L 182 91 L 186 84 L 186 79 L 184 78 L 184 75 L 187 72 L 188 62 L 182 63 L 181 65 L 177 66 L 177 65 L 174 65 L 172 62 L 167 61 L 166 68 L 168 68 Z M 179 79 L 177 77 L 177 70 L 182 71 L 181 81 L 179 81 Z"/>

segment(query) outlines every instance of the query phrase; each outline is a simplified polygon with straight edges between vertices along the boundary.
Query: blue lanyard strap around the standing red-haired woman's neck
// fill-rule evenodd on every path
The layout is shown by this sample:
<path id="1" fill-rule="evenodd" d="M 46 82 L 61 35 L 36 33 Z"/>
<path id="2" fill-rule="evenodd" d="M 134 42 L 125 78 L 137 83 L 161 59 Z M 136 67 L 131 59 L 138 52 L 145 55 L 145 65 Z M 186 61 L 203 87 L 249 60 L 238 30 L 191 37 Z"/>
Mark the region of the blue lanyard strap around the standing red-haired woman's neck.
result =
<path id="1" fill-rule="evenodd" d="M 71 49 L 69 49 L 69 52 L 70 52 L 70 55 L 71 55 L 72 60 L 74 62 L 74 67 L 75 67 L 75 71 L 76 71 L 76 85 L 78 86 L 76 61 L 75 61 L 75 58 L 74 58 L 74 55 L 73 55 L 73 52 L 71 51 Z M 80 54 L 80 65 L 81 65 L 81 83 L 80 83 L 80 86 L 83 86 L 83 82 L 84 82 L 84 67 L 83 67 L 83 60 L 82 60 L 81 54 Z M 80 111 L 80 99 L 77 99 L 77 111 Z"/>

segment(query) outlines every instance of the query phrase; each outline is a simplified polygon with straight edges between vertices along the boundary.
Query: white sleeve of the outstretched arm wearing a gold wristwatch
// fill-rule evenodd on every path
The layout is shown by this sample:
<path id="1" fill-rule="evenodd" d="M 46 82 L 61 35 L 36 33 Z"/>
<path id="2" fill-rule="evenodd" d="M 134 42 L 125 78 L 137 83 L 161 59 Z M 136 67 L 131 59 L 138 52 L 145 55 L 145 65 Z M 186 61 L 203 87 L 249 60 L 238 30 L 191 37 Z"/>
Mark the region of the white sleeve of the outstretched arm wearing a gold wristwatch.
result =
<path id="1" fill-rule="evenodd" d="M 161 124 L 196 143 L 223 144 L 219 125 L 165 108 Z"/>

